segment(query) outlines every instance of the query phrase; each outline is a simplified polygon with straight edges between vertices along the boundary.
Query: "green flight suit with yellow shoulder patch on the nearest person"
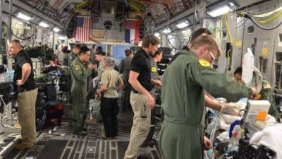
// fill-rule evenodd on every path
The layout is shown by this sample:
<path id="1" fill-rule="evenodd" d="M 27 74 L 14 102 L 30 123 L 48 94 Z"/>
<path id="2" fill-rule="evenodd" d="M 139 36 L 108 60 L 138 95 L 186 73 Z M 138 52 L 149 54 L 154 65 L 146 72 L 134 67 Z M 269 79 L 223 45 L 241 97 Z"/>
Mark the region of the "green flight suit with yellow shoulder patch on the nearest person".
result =
<path id="1" fill-rule="evenodd" d="M 185 50 L 167 67 L 162 82 L 165 117 L 159 146 L 163 159 L 204 158 L 204 90 L 228 102 L 252 95 L 250 88 Z"/>

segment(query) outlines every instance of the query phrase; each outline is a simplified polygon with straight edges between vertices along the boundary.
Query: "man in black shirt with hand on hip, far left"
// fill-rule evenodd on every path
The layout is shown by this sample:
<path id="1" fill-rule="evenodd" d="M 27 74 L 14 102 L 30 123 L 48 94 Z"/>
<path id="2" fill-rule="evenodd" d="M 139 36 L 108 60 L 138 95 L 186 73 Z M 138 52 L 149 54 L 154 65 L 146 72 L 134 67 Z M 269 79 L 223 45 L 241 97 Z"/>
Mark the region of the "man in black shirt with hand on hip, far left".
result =
<path id="1" fill-rule="evenodd" d="M 18 122 L 22 126 L 22 142 L 18 143 L 14 148 L 17 150 L 30 149 L 34 147 L 37 136 L 35 102 L 38 89 L 33 78 L 32 61 L 18 40 L 11 40 L 8 52 L 13 57 L 16 57 L 13 84 L 17 92 Z"/>

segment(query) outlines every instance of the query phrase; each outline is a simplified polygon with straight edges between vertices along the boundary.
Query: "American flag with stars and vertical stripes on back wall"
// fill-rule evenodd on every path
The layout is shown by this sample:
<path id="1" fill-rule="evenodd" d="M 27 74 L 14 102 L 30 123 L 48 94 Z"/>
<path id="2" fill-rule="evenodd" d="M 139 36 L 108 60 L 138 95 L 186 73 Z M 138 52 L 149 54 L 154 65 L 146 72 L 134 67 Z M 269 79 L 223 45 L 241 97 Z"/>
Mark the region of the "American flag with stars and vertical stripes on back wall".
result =
<path id="1" fill-rule="evenodd" d="M 76 17 L 76 32 L 75 41 L 87 42 L 90 37 L 90 17 L 78 16 Z"/>

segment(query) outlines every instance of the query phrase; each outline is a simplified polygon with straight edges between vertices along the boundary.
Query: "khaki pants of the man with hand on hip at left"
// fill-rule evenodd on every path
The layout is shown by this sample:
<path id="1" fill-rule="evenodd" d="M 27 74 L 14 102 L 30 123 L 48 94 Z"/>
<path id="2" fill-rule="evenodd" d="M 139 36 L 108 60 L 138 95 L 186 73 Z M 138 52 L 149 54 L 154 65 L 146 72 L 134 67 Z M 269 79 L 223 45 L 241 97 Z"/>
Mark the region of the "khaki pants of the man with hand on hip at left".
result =
<path id="1" fill-rule="evenodd" d="M 35 102 L 38 88 L 18 93 L 18 122 L 21 129 L 23 145 L 33 146 L 36 142 Z"/>

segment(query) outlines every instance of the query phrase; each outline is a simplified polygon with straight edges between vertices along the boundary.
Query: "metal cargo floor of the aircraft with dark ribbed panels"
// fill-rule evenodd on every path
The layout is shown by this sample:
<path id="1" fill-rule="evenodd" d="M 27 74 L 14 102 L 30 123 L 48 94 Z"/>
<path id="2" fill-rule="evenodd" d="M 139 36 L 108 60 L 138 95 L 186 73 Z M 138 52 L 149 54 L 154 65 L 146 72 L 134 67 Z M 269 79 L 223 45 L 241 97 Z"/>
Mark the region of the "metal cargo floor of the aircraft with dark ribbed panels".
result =
<path id="1" fill-rule="evenodd" d="M 123 159 L 130 137 L 133 113 L 118 114 L 118 134 L 116 140 L 102 140 L 100 138 L 101 125 L 88 126 L 87 136 L 75 136 L 69 125 L 72 121 L 71 108 L 66 107 L 66 117 L 63 126 L 47 128 L 39 132 L 38 142 L 32 150 L 16 151 L 12 147 L 1 156 L 4 159 L 39 158 L 39 159 Z M 53 130 L 50 133 L 50 130 Z M 158 132 L 155 137 L 157 138 Z M 9 137 L 0 143 L 0 150 L 11 142 L 18 142 L 16 137 Z M 157 146 L 140 148 L 140 154 L 152 159 L 159 159 Z"/>

